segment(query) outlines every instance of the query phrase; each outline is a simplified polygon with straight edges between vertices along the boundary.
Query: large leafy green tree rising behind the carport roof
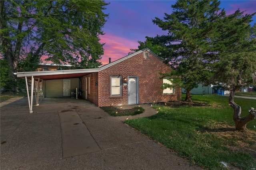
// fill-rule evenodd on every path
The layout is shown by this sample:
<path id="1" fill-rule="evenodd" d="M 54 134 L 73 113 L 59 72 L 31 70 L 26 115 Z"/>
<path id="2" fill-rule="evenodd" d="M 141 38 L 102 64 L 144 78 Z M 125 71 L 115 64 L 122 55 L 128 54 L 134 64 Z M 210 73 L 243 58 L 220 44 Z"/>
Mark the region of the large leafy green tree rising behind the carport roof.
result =
<path id="1" fill-rule="evenodd" d="M 30 55 L 71 65 L 100 59 L 106 5 L 101 0 L 1 0 L 0 45 L 11 72 L 18 70 L 20 58 Z"/>

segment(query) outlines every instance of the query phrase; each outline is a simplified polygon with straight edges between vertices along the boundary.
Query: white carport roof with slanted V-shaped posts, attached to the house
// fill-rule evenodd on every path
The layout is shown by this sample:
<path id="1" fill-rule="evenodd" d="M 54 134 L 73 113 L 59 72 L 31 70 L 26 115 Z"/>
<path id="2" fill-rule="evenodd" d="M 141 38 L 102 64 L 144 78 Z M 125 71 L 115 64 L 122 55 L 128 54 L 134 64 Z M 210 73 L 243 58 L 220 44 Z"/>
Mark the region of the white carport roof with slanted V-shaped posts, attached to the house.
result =
<path id="1" fill-rule="evenodd" d="M 18 78 L 25 79 L 26 91 L 28 95 L 29 113 L 33 113 L 33 96 L 35 95 L 36 106 L 38 106 L 39 98 L 41 101 L 44 98 L 43 94 L 45 92 L 46 80 L 79 78 L 94 72 L 98 72 L 98 69 L 28 71 L 28 72 L 17 72 L 17 73 L 14 73 L 14 75 L 17 75 Z M 29 94 L 29 88 L 28 88 L 29 80 L 31 80 L 31 95 Z M 37 83 L 37 88 L 36 88 L 36 83 Z M 40 87 L 40 84 L 41 84 L 41 87 Z"/>

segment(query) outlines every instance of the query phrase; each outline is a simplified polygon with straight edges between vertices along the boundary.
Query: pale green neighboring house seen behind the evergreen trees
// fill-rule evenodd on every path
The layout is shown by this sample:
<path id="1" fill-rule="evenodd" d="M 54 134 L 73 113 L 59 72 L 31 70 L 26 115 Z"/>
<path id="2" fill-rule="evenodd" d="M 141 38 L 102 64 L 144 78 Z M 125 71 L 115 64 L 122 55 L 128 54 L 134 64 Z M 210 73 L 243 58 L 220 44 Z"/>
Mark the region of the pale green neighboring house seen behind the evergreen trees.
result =
<path id="1" fill-rule="evenodd" d="M 182 93 L 186 93 L 186 90 L 184 88 L 182 88 Z M 229 90 L 224 91 L 224 95 L 229 93 L 230 93 Z M 197 88 L 192 89 L 191 94 L 192 95 L 212 95 L 212 94 L 221 95 L 220 91 L 215 89 L 213 85 L 204 86 L 202 84 L 198 84 Z"/>

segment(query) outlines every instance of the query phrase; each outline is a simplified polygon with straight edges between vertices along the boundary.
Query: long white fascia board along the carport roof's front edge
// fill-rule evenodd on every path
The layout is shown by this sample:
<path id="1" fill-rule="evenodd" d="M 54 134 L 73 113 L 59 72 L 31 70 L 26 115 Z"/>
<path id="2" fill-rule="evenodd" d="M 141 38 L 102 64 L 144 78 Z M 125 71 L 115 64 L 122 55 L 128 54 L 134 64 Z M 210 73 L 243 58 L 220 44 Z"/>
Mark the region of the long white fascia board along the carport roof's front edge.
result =
<path id="1" fill-rule="evenodd" d="M 40 76 L 40 75 L 63 75 L 63 74 L 77 74 L 77 73 L 95 73 L 98 72 L 97 69 L 73 69 L 73 70 L 54 70 L 54 71 L 28 71 L 28 72 L 17 72 L 14 75 L 17 77 L 30 77 Z"/>

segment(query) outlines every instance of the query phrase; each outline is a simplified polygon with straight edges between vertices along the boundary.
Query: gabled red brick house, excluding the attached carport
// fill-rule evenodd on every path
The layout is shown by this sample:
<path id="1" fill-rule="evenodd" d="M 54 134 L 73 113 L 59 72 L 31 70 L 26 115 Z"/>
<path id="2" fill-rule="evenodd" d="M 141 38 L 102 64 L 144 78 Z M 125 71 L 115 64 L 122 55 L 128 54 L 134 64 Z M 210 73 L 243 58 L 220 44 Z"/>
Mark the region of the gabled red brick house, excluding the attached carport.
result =
<path id="1" fill-rule="evenodd" d="M 81 77 L 82 98 L 100 107 L 180 100 L 181 88 L 160 89 L 167 80 L 159 79 L 159 72 L 170 73 L 172 69 L 152 51 L 144 49 Z"/>

